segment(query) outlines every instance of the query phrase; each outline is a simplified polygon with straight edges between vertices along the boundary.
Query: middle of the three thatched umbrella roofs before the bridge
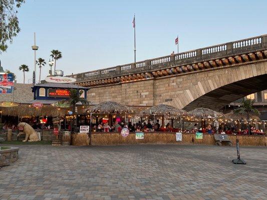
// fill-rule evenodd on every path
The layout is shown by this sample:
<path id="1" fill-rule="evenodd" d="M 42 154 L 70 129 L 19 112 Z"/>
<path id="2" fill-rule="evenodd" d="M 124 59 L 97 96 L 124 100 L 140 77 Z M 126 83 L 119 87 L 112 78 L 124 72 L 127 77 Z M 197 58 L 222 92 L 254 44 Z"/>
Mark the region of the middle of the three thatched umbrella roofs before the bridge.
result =
<path id="1" fill-rule="evenodd" d="M 177 107 L 159 104 L 152 107 L 148 107 L 145 110 L 142 110 L 140 114 L 156 114 L 156 115 L 186 115 L 187 111 L 179 109 Z"/>

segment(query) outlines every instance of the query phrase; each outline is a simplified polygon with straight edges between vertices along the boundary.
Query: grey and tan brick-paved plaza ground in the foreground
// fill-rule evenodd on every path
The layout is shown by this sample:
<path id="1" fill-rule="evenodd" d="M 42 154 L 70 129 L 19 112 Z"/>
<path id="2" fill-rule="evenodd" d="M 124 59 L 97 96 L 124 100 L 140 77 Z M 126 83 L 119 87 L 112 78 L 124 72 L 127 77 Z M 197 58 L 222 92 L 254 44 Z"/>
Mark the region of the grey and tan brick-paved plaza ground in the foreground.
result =
<path id="1" fill-rule="evenodd" d="M 21 145 L 0 199 L 267 199 L 267 148 Z"/>

